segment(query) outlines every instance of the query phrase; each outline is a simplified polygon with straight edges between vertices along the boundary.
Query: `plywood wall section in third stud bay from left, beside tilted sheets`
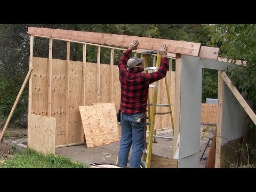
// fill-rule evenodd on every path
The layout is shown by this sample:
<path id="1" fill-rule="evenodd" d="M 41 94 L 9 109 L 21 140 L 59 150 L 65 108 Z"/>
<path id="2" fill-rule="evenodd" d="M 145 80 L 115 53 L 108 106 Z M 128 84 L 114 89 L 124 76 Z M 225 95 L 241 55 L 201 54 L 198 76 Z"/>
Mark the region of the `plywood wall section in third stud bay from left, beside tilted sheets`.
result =
<path id="1" fill-rule="evenodd" d="M 68 144 L 82 142 L 79 106 L 83 103 L 83 62 L 69 61 L 68 68 Z"/>

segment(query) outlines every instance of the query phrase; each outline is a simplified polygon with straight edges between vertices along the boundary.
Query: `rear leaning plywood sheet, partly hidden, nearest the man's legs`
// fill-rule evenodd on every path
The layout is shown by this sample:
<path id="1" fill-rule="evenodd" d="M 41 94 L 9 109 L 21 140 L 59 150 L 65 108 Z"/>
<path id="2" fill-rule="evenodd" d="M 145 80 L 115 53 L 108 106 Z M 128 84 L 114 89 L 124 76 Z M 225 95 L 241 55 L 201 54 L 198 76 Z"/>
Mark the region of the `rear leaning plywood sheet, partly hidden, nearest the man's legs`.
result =
<path id="1" fill-rule="evenodd" d="M 92 105 L 103 113 L 109 133 L 109 141 L 119 141 L 115 103 L 92 103 Z"/>

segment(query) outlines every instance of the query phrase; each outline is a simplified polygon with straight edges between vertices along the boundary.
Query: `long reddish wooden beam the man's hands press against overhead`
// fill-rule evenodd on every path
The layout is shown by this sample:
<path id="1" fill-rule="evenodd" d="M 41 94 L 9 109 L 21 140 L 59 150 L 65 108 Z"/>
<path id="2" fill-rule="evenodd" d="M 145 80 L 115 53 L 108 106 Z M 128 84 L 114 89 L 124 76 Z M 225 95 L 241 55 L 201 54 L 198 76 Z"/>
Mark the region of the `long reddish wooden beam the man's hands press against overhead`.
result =
<path id="1" fill-rule="evenodd" d="M 115 46 L 129 47 L 134 39 L 137 39 L 139 44 L 137 48 L 160 51 L 161 45 L 167 45 L 167 52 L 180 53 L 198 57 L 201 49 L 201 43 L 191 43 L 185 41 L 174 41 L 169 39 L 157 39 L 148 37 L 116 35 L 105 33 L 94 33 L 87 31 L 63 30 L 28 27 L 28 34 L 34 36 L 45 36 L 49 38 L 65 38 L 74 41 L 82 41 L 89 43 L 107 44 Z"/>

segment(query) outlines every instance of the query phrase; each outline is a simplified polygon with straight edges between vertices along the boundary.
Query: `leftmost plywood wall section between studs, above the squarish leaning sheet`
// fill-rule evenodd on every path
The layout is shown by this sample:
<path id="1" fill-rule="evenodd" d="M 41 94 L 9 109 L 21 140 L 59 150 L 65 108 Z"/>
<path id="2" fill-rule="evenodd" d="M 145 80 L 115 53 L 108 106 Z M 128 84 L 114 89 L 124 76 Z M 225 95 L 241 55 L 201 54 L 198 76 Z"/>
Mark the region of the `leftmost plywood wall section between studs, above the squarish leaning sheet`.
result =
<path id="1" fill-rule="evenodd" d="M 48 116 L 48 58 L 33 58 L 31 114 Z"/>

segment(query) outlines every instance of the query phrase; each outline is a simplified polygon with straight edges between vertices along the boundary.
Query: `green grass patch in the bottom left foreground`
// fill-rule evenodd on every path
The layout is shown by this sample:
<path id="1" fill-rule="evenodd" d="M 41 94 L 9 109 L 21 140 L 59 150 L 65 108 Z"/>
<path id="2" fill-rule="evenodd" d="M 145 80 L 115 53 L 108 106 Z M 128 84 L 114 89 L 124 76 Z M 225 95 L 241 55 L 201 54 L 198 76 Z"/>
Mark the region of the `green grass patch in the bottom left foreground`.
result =
<path id="1" fill-rule="evenodd" d="M 32 149 L 15 153 L 14 157 L 0 161 L 0 168 L 87 168 L 89 166 L 72 162 L 69 157 L 59 155 L 42 155 Z"/>

